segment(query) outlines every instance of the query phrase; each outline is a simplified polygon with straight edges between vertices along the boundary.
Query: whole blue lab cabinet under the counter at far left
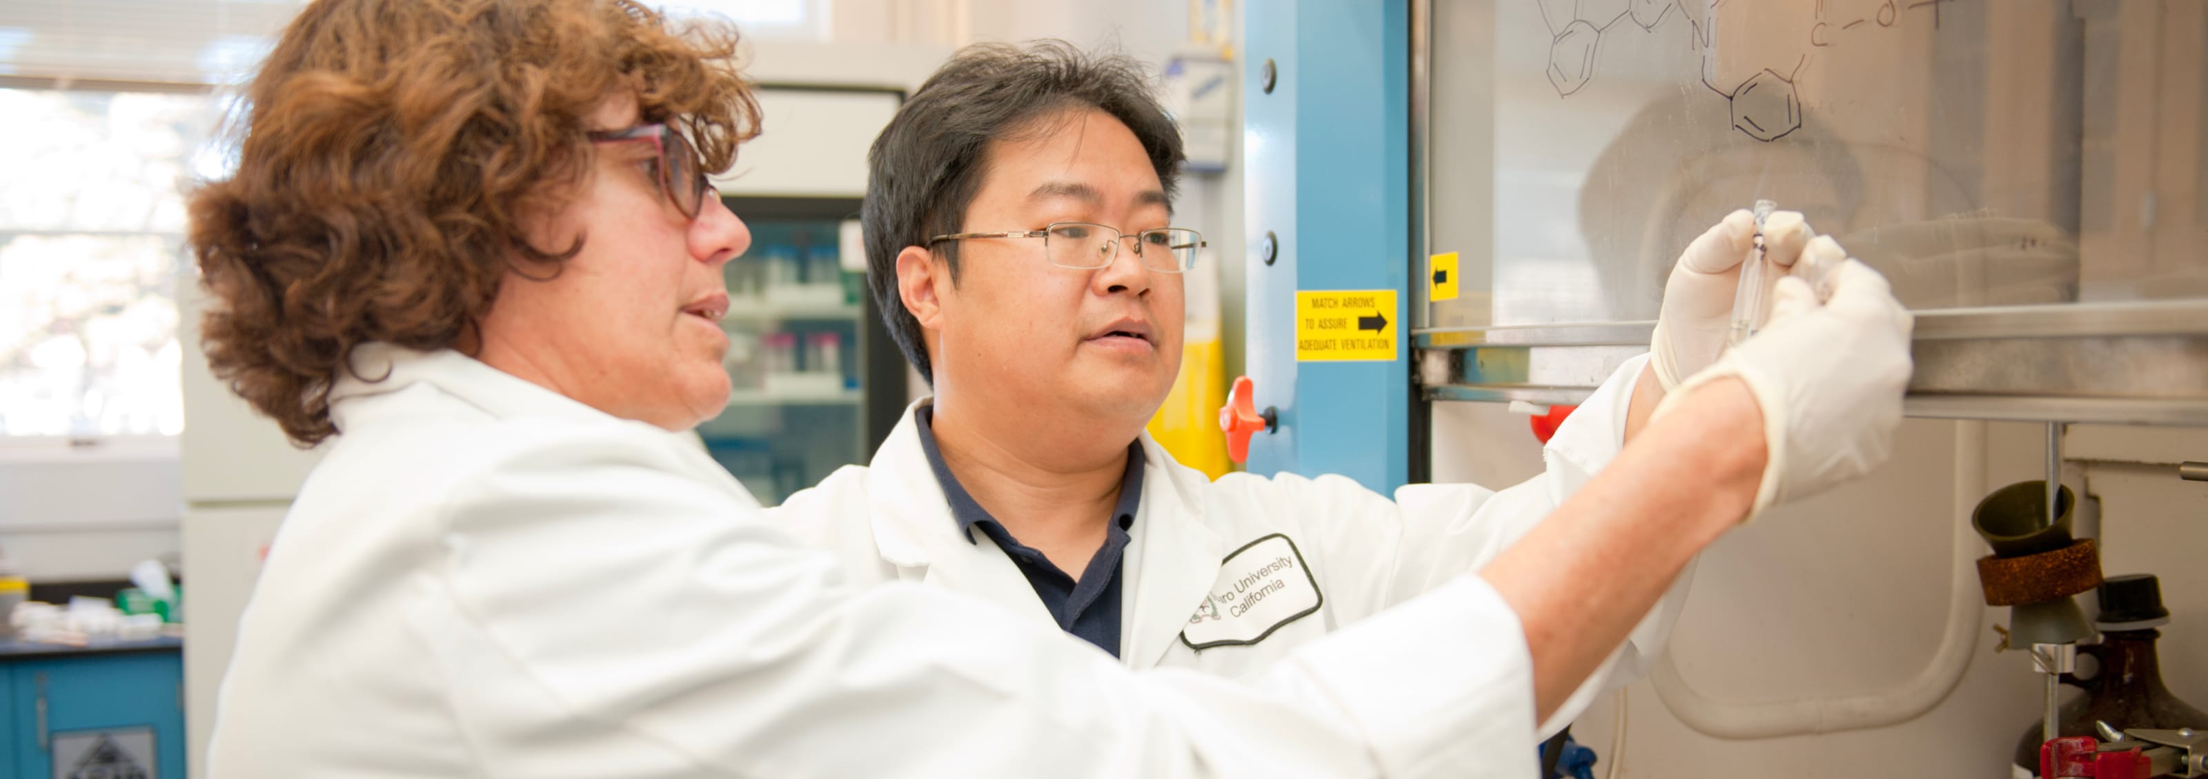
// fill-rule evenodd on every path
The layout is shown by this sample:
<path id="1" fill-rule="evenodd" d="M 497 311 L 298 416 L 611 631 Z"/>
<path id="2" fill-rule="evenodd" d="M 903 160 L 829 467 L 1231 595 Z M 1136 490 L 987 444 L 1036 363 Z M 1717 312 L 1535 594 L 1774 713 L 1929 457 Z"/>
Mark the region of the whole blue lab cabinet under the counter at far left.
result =
<path id="1" fill-rule="evenodd" d="M 0 775 L 183 779 L 177 649 L 0 655 Z"/>

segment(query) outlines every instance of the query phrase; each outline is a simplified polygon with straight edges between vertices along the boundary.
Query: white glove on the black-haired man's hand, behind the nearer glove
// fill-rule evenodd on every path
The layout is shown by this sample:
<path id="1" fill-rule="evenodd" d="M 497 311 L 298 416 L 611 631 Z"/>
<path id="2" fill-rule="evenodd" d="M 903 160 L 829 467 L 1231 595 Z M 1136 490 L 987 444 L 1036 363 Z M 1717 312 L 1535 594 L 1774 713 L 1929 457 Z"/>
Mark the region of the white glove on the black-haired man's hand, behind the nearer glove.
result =
<path id="1" fill-rule="evenodd" d="M 1775 274 L 1764 285 L 1775 287 L 1793 267 L 1811 230 L 1800 212 L 1773 212 L 1764 218 L 1764 258 Z M 1755 214 L 1738 210 L 1687 245 L 1671 265 L 1663 287 L 1663 313 L 1656 316 L 1656 338 L 1649 340 L 1649 366 L 1669 393 L 1696 371 L 1718 362 L 1733 327 L 1733 296 L 1740 291 L 1740 260 L 1755 252 Z M 1764 289 L 1771 300 L 1771 289 Z"/>

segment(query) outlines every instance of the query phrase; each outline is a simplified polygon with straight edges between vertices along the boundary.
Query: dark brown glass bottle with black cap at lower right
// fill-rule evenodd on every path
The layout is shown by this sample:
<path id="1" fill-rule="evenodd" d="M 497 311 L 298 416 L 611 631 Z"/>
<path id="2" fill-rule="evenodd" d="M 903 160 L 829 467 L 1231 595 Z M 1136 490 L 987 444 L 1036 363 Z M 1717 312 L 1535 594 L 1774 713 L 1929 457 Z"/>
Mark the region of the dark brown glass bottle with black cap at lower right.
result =
<path id="1" fill-rule="evenodd" d="M 2162 686 L 2162 662 L 2155 655 L 2155 640 L 2162 631 L 2151 625 L 2168 622 L 2162 609 L 2162 591 L 2153 576 L 2111 576 L 2100 589 L 2102 613 L 2098 618 L 2100 644 L 2080 644 L 2080 655 L 2093 655 L 2100 673 L 2091 680 L 2064 675 L 2062 684 L 2084 689 L 2084 697 L 2064 704 L 2058 713 L 2062 735 L 2091 735 L 2095 722 L 2106 722 L 2117 730 L 2129 728 L 2208 728 L 2208 713 L 2188 706 Z M 2140 627 L 2148 625 L 2148 627 Z M 2140 629 L 2117 629 L 2140 627 Z M 2016 764 L 2031 772 L 2040 768 L 2042 724 L 2016 739 Z"/>

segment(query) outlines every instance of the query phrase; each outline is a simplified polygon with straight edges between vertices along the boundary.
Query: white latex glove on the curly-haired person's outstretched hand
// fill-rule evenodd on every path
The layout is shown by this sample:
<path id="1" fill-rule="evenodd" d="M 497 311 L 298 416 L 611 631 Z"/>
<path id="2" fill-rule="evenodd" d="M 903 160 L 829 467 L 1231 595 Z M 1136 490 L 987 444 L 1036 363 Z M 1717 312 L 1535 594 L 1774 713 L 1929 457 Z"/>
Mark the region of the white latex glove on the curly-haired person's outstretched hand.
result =
<path id="1" fill-rule="evenodd" d="M 1819 238 L 1813 252 L 1839 252 L 1839 245 Z M 1857 479 L 1892 455 L 1914 318 L 1894 300 L 1886 276 L 1864 263 L 1839 263 L 1830 289 L 1833 298 L 1819 305 L 1806 280 L 1780 278 L 1771 322 L 1656 406 L 1663 417 L 1696 386 L 1722 377 L 1740 377 L 1755 395 L 1769 459 L 1742 523 L 1771 505 Z"/>

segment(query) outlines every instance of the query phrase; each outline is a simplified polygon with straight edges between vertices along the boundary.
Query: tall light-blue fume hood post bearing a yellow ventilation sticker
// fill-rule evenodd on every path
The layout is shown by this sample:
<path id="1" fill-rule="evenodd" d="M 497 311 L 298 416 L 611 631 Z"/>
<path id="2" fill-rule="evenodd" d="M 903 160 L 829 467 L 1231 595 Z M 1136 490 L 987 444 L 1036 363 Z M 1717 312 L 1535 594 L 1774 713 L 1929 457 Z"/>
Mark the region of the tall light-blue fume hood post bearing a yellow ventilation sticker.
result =
<path id="1" fill-rule="evenodd" d="M 1250 446 L 1252 472 L 1338 472 L 1373 490 L 1409 477 L 1409 338 L 1393 362 L 1294 362 L 1296 289 L 1409 296 L 1409 2 L 1252 2 L 1245 11 L 1245 199 L 1250 258 L 1245 362 L 1281 433 Z M 1265 60 L 1278 82 L 1259 84 Z"/>

